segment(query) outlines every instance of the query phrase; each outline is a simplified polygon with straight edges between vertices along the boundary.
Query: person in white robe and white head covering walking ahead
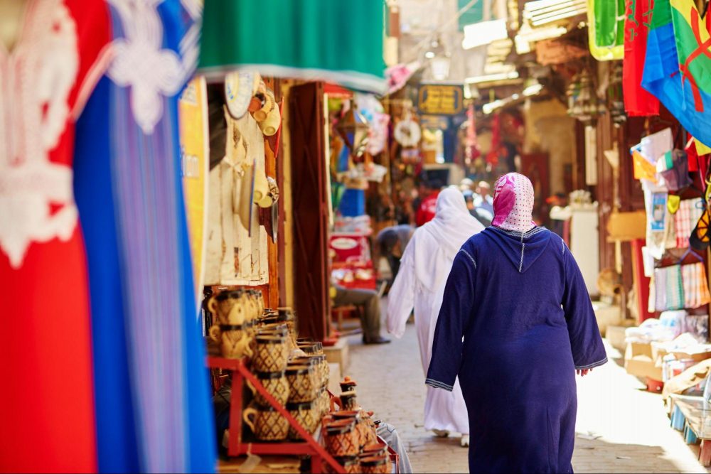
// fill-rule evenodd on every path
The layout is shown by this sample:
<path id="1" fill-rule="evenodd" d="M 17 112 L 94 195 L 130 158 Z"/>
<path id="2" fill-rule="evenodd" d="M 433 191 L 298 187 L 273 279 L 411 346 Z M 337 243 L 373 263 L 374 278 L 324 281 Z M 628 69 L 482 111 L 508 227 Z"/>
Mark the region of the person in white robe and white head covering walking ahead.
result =
<path id="1" fill-rule="evenodd" d="M 454 256 L 469 237 L 483 228 L 469 214 L 461 191 L 456 187 L 446 188 L 437 197 L 434 219 L 415 230 L 402 254 L 400 271 L 387 296 L 387 331 L 402 338 L 407 319 L 415 309 L 419 355 L 425 375 L 442 305 L 442 288 Z M 427 387 L 424 429 L 434 431 L 437 436 L 461 433 L 461 445 L 469 446 L 469 421 L 459 381 L 455 382 L 452 392 Z"/>

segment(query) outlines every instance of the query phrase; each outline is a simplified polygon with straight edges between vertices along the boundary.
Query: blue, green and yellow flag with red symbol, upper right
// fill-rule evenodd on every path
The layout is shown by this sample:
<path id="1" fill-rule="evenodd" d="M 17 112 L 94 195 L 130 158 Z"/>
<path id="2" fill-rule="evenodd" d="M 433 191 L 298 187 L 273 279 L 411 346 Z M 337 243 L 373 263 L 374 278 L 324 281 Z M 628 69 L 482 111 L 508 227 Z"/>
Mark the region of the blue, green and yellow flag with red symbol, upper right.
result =
<path id="1" fill-rule="evenodd" d="M 711 144 L 711 36 L 691 0 L 656 0 L 642 86 L 702 143 Z"/>

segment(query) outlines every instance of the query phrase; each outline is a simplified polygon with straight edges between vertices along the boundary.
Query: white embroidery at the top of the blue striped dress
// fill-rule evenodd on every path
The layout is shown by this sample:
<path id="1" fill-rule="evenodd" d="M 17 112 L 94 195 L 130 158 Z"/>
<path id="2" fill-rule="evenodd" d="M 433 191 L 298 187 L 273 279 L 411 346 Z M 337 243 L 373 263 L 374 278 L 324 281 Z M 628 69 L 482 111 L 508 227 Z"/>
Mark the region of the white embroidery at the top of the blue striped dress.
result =
<path id="1" fill-rule="evenodd" d="M 184 72 L 175 51 L 162 49 L 163 23 L 156 7 L 163 0 L 109 0 L 121 17 L 125 38 L 112 43 L 109 77 L 131 87 L 131 111 L 145 134 L 152 134 L 163 116 L 161 96 L 175 95 Z"/>

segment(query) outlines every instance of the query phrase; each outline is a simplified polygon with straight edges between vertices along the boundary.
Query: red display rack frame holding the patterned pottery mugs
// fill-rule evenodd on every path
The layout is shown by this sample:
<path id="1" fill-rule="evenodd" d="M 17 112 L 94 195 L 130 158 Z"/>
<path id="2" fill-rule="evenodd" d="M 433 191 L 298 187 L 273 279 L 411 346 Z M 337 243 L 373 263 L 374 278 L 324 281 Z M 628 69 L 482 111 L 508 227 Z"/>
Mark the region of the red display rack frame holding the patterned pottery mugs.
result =
<path id="1" fill-rule="evenodd" d="M 242 359 L 225 359 L 224 357 L 208 357 L 208 367 L 232 371 L 232 396 L 230 397 L 230 439 L 228 442 L 229 456 L 242 456 L 247 453 L 263 455 L 311 456 L 311 472 L 322 473 L 324 461 L 331 472 L 346 473 L 346 470 L 331 456 L 321 444 L 306 431 L 301 424 L 277 402 L 272 394 L 267 392 L 262 383 L 245 366 Z M 304 439 L 296 443 L 244 443 L 242 442 L 242 389 L 245 379 L 252 384 L 264 399 L 289 422 L 289 425 Z M 392 458 L 392 453 L 390 453 Z M 397 456 L 397 455 L 396 455 Z"/>

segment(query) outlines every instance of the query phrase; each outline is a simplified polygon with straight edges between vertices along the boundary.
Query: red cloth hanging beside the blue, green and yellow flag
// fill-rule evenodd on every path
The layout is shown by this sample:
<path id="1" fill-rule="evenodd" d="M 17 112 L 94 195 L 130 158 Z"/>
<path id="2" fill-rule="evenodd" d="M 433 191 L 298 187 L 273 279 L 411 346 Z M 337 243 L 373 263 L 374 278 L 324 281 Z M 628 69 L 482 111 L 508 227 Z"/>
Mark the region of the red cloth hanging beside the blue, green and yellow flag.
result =
<path id="1" fill-rule="evenodd" d="M 625 112 L 630 116 L 659 114 L 659 101 L 642 88 L 647 32 L 653 0 L 626 0 L 622 90 Z"/>

